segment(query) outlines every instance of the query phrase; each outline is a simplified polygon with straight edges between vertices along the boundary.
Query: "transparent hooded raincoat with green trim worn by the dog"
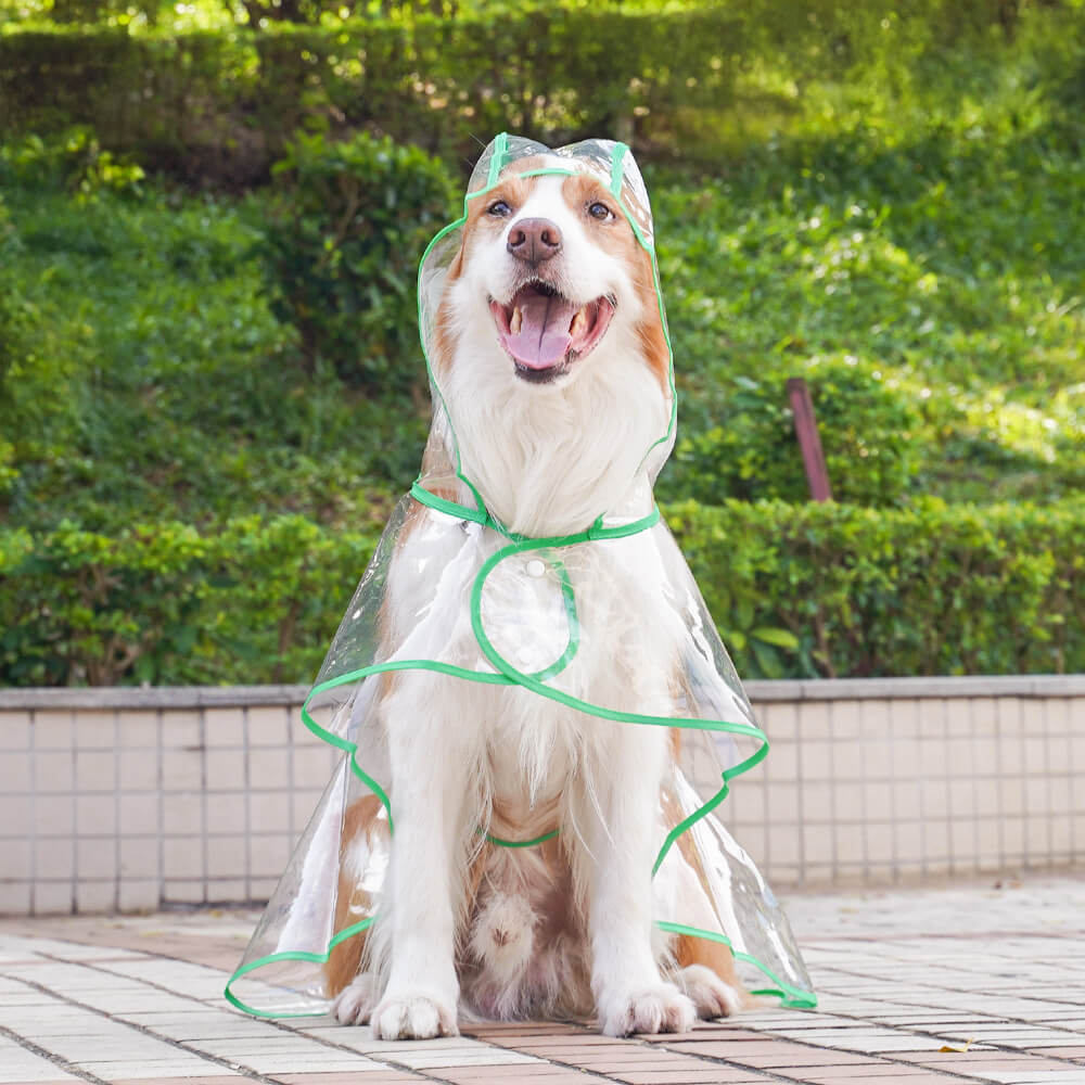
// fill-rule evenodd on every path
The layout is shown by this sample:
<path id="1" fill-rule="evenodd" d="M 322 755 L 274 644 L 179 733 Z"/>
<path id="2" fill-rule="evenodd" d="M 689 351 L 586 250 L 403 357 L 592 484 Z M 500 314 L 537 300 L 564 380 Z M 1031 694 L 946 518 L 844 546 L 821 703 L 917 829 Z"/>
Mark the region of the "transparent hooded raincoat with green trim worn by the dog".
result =
<path id="1" fill-rule="evenodd" d="M 544 168 L 518 170 L 519 162 L 537 163 L 538 155 L 547 156 Z M 376 711 L 382 675 L 430 672 L 475 684 L 481 697 L 487 688 L 519 686 L 592 717 L 595 726 L 679 729 L 681 741 L 674 744 L 677 752 L 660 797 L 655 923 L 663 932 L 729 946 L 739 976 L 753 994 L 778 996 L 788 1006 L 814 1006 L 816 997 L 787 918 L 722 820 L 729 788 L 764 760 L 768 742 L 651 497 L 651 484 L 674 444 L 673 361 L 668 401 L 661 414 L 665 429 L 644 450 L 639 483 L 630 480 L 624 506 L 600 509 L 598 519 L 583 531 L 547 538 L 513 535 L 492 515 L 463 473 L 455 420 L 429 362 L 434 356 L 439 298 L 470 202 L 510 171 L 595 174 L 618 201 L 651 256 L 666 328 L 648 193 L 628 149 L 609 140 L 586 140 L 553 151 L 516 137 L 495 139 L 471 176 L 463 216 L 433 239 L 419 270 L 419 322 L 433 397 L 433 429 L 422 473 L 393 513 L 302 710 L 305 726 L 342 751 L 342 757 L 227 985 L 227 998 L 264 1017 L 330 1010 L 322 966 L 335 946 L 380 922 L 381 888 L 394 832 L 388 753 Z M 450 487 L 472 494 L 473 502 L 460 505 L 438 496 Z M 431 562 L 431 567 L 417 570 L 424 597 L 417 622 L 400 630 L 395 643 L 387 643 L 380 635 L 380 613 L 408 518 L 412 532 L 433 540 L 443 567 L 434 569 Z M 597 548 L 609 551 L 603 564 L 592 561 Z M 607 613 L 584 613 L 578 579 L 598 577 L 600 570 L 612 580 L 613 590 L 602 595 L 613 607 Z M 460 601 L 458 621 L 470 626 L 468 653 L 449 647 L 462 638 L 433 627 L 433 615 L 447 613 L 447 608 L 432 604 L 442 596 L 447 601 L 449 592 Z M 678 630 L 681 679 L 673 687 L 669 703 L 659 703 L 648 687 L 638 699 L 644 668 L 652 664 L 636 630 L 622 626 L 623 600 L 630 593 L 639 593 L 641 607 L 650 608 L 638 609 L 639 613 L 656 614 L 660 623 Z M 600 592 L 593 588 L 591 595 Z M 578 658 L 588 661 L 601 652 L 626 672 L 620 685 L 627 693 L 615 703 L 585 699 L 578 680 Z M 371 803 L 375 796 L 380 803 L 361 844 L 366 850 L 361 885 L 370 903 L 336 929 L 344 817 L 363 796 Z M 529 847 L 561 831 L 558 826 L 527 841 L 486 833 L 486 840 L 487 846 Z"/>

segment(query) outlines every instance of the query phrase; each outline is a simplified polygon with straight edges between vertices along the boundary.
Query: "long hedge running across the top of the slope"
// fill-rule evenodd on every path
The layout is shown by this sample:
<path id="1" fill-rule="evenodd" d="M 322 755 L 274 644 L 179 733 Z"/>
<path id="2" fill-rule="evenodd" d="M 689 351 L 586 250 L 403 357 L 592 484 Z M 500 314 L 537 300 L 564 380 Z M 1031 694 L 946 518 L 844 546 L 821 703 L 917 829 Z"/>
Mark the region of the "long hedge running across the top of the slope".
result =
<path id="1" fill-rule="evenodd" d="M 473 158 L 502 129 L 550 142 L 617 133 L 703 159 L 744 77 L 755 88 L 744 116 L 794 113 L 812 79 L 906 68 L 963 35 L 1003 37 L 1016 11 L 1005 0 L 750 0 L 496 4 L 455 20 L 176 36 L 15 25 L 0 35 L 0 116 L 22 131 L 88 125 L 113 151 L 220 183 L 264 177 L 298 127 L 374 128 L 446 161 Z M 788 86 L 766 82 L 769 69 Z"/>

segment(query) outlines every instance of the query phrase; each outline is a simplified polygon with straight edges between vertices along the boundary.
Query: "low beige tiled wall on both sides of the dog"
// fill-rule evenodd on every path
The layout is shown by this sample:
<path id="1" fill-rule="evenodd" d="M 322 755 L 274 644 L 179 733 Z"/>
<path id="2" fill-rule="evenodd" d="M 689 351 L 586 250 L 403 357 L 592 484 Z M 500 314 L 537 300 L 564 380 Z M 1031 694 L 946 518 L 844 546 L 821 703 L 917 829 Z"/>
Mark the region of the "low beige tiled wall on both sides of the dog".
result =
<path id="1" fill-rule="evenodd" d="M 777 886 L 1085 867 L 1085 676 L 754 682 Z M 296 687 L 0 691 L 0 914 L 259 901 L 337 754 Z"/>

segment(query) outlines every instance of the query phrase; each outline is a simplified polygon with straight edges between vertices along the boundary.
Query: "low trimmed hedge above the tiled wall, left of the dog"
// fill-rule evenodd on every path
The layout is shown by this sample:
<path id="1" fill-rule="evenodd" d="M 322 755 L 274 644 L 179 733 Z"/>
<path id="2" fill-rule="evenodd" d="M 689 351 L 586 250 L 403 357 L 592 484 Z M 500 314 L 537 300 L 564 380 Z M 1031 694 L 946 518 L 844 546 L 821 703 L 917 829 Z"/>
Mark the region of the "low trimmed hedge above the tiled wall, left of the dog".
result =
<path id="1" fill-rule="evenodd" d="M 0 535 L 0 684 L 304 681 L 374 541 L 301 516 Z"/>

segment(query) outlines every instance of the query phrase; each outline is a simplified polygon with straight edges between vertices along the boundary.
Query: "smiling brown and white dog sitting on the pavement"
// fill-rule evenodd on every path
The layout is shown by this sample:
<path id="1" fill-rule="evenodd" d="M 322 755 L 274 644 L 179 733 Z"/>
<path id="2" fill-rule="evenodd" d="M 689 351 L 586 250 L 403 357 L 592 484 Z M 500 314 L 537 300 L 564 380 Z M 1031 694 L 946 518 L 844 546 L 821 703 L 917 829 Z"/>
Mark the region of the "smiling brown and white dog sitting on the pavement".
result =
<path id="1" fill-rule="evenodd" d="M 595 176 L 520 176 L 550 165 L 522 161 L 470 202 L 431 357 L 460 474 L 495 518 L 531 537 L 583 531 L 601 512 L 647 513 L 646 451 L 671 409 L 651 257 Z M 455 462 L 449 439 L 435 430 L 431 464 Z M 474 505 L 455 474 L 446 483 L 442 496 Z M 488 534 L 480 561 L 507 541 Z M 447 605 L 447 621 L 426 626 L 444 642 L 414 643 L 412 653 L 469 661 L 477 655 L 462 618 L 470 579 L 437 596 L 418 583 L 423 566 L 455 575 L 447 545 L 408 522 L 384 635 L 397 643 L 420 608 Z M 659 558 L 648 542 L 623 545 L 643 552 L 630 562 L 588 549 L 572 571 L 582 627 L 607 631 L 585 636 L 565 677 L 586 700 L 674 715 L 678 635 L 661 616 L 659 578 L 638 566 Z M 593 1010 L 603 1032 L 625 1035 L 686 1031 L 698 1016 L 742 1005 L 726 947 L 652 924 L 653 899 L 680 891 L 651 878 L 676 731 L 599 720 L 516 686 L 427 672 L 384 679 L 395 838 L 378 922 L 326 966 L 340 1021 L 369 1021 L 374 1036 L 397 1039 L 455 1034 L 460 1011 Z M 345 819 L 340 930 L 366 906 L 352 855 L 366 834 L 385 831 L 378 809 L 366 799 Z M 507 848 L 486 843 L 480 826 L 520 841 L 561 834 Z"/>

